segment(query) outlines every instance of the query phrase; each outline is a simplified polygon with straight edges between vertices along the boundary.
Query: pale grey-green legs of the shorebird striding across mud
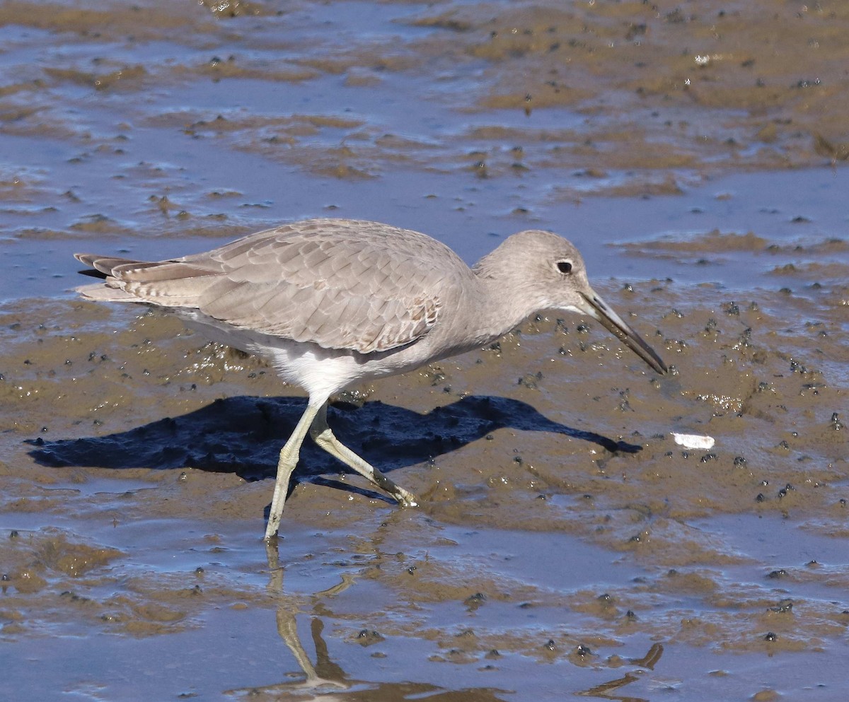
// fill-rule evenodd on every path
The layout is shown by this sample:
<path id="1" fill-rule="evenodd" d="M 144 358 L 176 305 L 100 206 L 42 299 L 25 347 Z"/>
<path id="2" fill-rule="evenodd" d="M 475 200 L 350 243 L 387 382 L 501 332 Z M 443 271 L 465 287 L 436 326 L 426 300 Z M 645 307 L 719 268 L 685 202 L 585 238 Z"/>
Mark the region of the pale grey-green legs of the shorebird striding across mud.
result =
<path id="1" fill-rule="evenodd" d="M 320 404 L 312 400 L 306 405 L 306 411 L 295 426 L 295 431 L 289 437 L 289 441 L 280 451 L 280 460 L 277 465 L 277 481 L 274 483 L 274 496 L 271 502 L 271 514 L 268 515 L 268 526 L 266 538 L 273 537 L 280 526 L 280 518 L 283 516 L 283 505 L 286 493 L 289 491 L 289 481 L 295 465 L 298 464 L 298 456 L 301 453 L 301 444 L 304 443 L 306 432 L 309 432 L 312 440 L 331 456 L 339 459 L 345 465 L 353 468 L 361 476 L 368 478 L 375 487 L 380 487 L 385 493 L 389 493 L 402 507 L 415 507 L 419 503 L 413 493 L 403 487 L 396 485 L 383 473 L 374 468 L 357 454 L 351 451 L 344 443 L 341 443 L 327 426 L 327 400 Z"/>

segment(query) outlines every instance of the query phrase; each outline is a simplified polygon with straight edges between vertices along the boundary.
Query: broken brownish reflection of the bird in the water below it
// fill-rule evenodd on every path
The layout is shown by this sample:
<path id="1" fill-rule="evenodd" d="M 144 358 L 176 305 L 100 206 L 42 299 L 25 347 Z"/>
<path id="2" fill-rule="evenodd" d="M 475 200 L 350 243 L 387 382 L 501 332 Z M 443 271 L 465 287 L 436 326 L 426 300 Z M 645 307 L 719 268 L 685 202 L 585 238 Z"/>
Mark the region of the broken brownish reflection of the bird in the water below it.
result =
<path id="1" fill-rule="evenodd" d="M 426 698 L 433 702 L 506 702 L 509 690 L 498 688 L 463 688 L 449 690 L 440 688 L 428 682 L 368 682 L 349 677 L 341 666 L 330 659 L 327 643 L 323 638 L 324 622 L 319 611 L 323 608 L 323 600 L 334 598 L 335 595 L 350 588 L 356 580 L 351 573 L 343 573 L 341 582 L 332 588 L 313 593 L 306 598 L 312 608 L 310 633 L 315 649 L 315 663 L 309 654 L 297 630 L 297 615 L 303 613 L 305 598 L 300 595 L 287 595 L 284 592 L 284 567 L 280 565 L 278 554 L 278 539 L 275 537 L 266 544 L 269 580 L 267 589 L 278 597 L 277 631 L 283 643 L 286 644 L 295 661 L 301 668 L 300 673 L 287 673 L 287 679 L 261 687 L 236 688 L 225 691 L 224 694 L 233 697 L 248 697 L 251 700 L 313 700 L 322 699 L 327 702 L 396 702 L 401 699 Z M 627 672 L 609 682 L 596 685 L 576 692 L 586 697 L 616 699 L 621 702 L 646 702 L 640 697 L 616 694 L 618 690 L 631 682 L 642 679 L 641 672 L 654 670 L 661 660 L 663 646 L 655 643 L 641 659 L 631 660 L 637 667 L 636 671 Z M 529 661 L 529 665 L 531 662 Z M 642 669 L 642 670 L 641 670 Z M 505 696 L 507 695 L 507 696 Z"/>

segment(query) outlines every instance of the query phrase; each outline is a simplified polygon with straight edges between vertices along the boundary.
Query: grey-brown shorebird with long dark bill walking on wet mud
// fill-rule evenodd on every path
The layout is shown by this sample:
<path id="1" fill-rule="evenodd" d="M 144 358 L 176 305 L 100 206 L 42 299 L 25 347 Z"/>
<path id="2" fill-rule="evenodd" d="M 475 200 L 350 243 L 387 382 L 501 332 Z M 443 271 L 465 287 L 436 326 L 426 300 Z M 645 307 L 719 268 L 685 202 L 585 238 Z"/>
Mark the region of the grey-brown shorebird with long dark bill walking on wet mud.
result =
<path id="1" fill-rule="evenodd" d="M 417 504 L 330 430 L 329 397 L 355 383 L 481 348 L 545 310 L 589 315 L 657 373 L 667 370 L 590 287 L 577 249 L 548 231 L 520 231 L 471 268 L 418 231 L 356 220 L 295 222 L 165 261 L 76 259 L 103 279 L 77 288 L 84 297 L 171 309 L 309 393 L 280 451 L 266 538 L 278 531 L 307 432 L 402 506 Z"/>

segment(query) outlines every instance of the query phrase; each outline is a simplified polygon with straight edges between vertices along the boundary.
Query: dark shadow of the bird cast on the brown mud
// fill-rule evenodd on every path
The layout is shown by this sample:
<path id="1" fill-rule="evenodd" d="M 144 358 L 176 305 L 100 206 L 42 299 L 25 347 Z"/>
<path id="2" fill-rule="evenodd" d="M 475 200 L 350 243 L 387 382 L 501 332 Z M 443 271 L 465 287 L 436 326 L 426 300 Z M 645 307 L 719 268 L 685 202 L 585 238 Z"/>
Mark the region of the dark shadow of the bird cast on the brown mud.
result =
<path id="1" fill-rule="evenodd" d="M 196 468 L 261 480 L 274 475 L 280 448 L 304 409 L 303 398 L 238 396 L 127 432 L 56 441 L 39 437 L 26 443 L 40 465 Z M 596 443 L 610 453 L 641 450 L 637 444 L 550 421 L 530 404 L 500 397 L 467 396 L 424 415 L 378 401 L 359 408 L 331 406 L 328 421 L 342 443 L 385 472 L 447 454 L 504 427 L 559 433 Z M 343 467 L 306 441 L 295 475 L 312 479 Z"/>

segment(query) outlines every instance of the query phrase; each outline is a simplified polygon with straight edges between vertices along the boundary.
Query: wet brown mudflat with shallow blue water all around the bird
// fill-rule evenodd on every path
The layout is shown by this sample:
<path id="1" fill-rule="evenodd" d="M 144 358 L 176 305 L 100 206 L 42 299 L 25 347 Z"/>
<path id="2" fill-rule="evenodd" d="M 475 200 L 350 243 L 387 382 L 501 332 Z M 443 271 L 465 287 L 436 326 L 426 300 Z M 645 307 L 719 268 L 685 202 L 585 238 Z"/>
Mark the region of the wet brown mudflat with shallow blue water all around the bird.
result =
<path id="1" fill-rule="evenodd" d="M 4 3 L 0 696 L 843 699 L 847 28 L 841 3 Z M 331 423 L 422 506 L 305 447 L 267 554 L 302 393 L 76 299 L 70 254 L 306 216 L 469 262 L 559 231 L 677 372 L 545 318 L 360 388 Z"/>

